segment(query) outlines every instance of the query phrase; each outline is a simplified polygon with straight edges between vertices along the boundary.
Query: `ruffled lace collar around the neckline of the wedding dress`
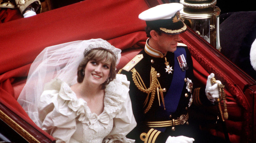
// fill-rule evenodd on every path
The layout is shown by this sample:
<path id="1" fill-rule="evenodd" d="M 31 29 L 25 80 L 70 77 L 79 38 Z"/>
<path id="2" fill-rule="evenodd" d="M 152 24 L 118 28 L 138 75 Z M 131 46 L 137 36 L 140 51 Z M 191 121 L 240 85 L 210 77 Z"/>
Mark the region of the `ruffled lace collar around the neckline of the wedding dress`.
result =
<path id="1" fill-rule="evenodd" d="M 86 101 L 77 99 L 75 92 L 70 86 L 62 82 L 59 96 L 68 101 L 68 107 L 76 112 L 78 120 L 88 124 L 89 128 L 98 131 L 98 125 L 107 127 L 108 121 L 113 119 L 116 113 L 121 109 L 129 91 L 129 81 L 126 76 L 117 74 L 116 79 L 110 82 L 105 89 L 104 110 L 100 115 L 91 113 Z"/>

